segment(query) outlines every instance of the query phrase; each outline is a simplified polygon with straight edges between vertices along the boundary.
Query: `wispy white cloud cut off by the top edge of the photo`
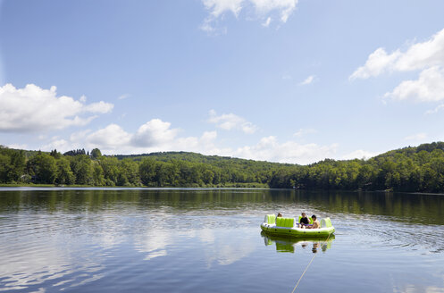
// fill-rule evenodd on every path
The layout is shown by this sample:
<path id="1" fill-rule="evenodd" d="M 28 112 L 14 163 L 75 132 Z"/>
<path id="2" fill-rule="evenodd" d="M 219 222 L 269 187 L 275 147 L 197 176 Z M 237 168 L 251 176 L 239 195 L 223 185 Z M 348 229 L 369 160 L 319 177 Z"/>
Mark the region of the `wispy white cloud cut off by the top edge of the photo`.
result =
<path id="1" fill-rule="evenodd" d="M 205 9 L 210 13 L 205 18 L 200 29 L 214 33 L 214 21 L 222 18 L 225 13 L 232 13 L 236 18 L 246 8 L 253 11 L 256 17 L 264 20 L 263 26 L 268 27 L 272 22 L 272 13 L 278 13 L 281 22 L 289 20 L 289 16 L 296 10 L 298 0 L 202 0 Z"/>

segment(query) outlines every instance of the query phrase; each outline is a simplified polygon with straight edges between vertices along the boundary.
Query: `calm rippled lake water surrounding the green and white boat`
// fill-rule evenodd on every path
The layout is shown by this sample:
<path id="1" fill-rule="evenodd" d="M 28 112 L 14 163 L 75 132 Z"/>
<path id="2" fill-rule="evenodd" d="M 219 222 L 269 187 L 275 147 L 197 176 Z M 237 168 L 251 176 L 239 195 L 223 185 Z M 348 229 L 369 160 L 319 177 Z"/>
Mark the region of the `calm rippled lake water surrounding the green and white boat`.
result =
<path id="1" fill-rule="evenodd" d="M 261 235 L 264 214 L 335 237 Z M 315 255 L 315 257 L 314 257 Z M 0 188 L 0 291 L 444 292 L 444 196 Z"/>

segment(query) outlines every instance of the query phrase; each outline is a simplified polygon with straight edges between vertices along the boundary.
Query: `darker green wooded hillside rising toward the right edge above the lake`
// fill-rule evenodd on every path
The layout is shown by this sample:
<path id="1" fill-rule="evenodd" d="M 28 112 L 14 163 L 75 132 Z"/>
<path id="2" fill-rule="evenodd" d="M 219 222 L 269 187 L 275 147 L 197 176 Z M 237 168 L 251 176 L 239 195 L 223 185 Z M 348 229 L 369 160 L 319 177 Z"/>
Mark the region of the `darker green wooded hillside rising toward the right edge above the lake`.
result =
<path id="1" fill-rule="evenodd" d="M 368 160 L 323 160 L 281 168 L 272 188 L 444 192 L 444 142 L 405 147 Z"/>

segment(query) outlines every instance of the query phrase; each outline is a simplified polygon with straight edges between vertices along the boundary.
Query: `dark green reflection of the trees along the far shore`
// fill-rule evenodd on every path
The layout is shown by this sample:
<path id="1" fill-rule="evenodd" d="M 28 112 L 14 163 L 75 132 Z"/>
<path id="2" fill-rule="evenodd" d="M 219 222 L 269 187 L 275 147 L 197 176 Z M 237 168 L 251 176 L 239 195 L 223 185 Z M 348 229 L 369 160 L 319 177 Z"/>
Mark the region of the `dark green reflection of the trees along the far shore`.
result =
<path id="1" fill-rule="evenodd" d="M 127 189 L 122 192 L 121 189 L 11 191 L 11 188 L 0 188 L 0 213 L 85 209 L 99 212 L 119 209 L 121 204 L 151 209 L 168 206 L 181 213 L 234 208 L 298 214 L 307 207 L 325 215 L 372 214 L 390 217 L 390 221 L 444 224 L 444 196 L 440 195 L 269 189 Z"/>

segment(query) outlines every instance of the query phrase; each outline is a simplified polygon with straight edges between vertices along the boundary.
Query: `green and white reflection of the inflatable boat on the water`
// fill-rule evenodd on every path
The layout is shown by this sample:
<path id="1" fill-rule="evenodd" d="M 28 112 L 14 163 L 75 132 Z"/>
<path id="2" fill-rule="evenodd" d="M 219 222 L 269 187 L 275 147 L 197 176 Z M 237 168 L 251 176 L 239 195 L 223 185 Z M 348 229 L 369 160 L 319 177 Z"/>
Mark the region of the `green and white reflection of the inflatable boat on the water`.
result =
<path id="1" fill-rule="evenodd" d="M 312 248 L 312 252 L 315 254 L 318 249 L 321 248 L 323 252 L 331 248 L 331 243 L 335 239 L 334 235 L 331 235 L 329 239 L 291 239 L 279 236 L 268 235 L 264 231 L 261 232 L 261 236 L 264 239 L 264 244 L 266 247 L 275 244 L 276 251 L 295 253 L 296 247 L 301 247 L 306 249 L 307 247 Z"/>

